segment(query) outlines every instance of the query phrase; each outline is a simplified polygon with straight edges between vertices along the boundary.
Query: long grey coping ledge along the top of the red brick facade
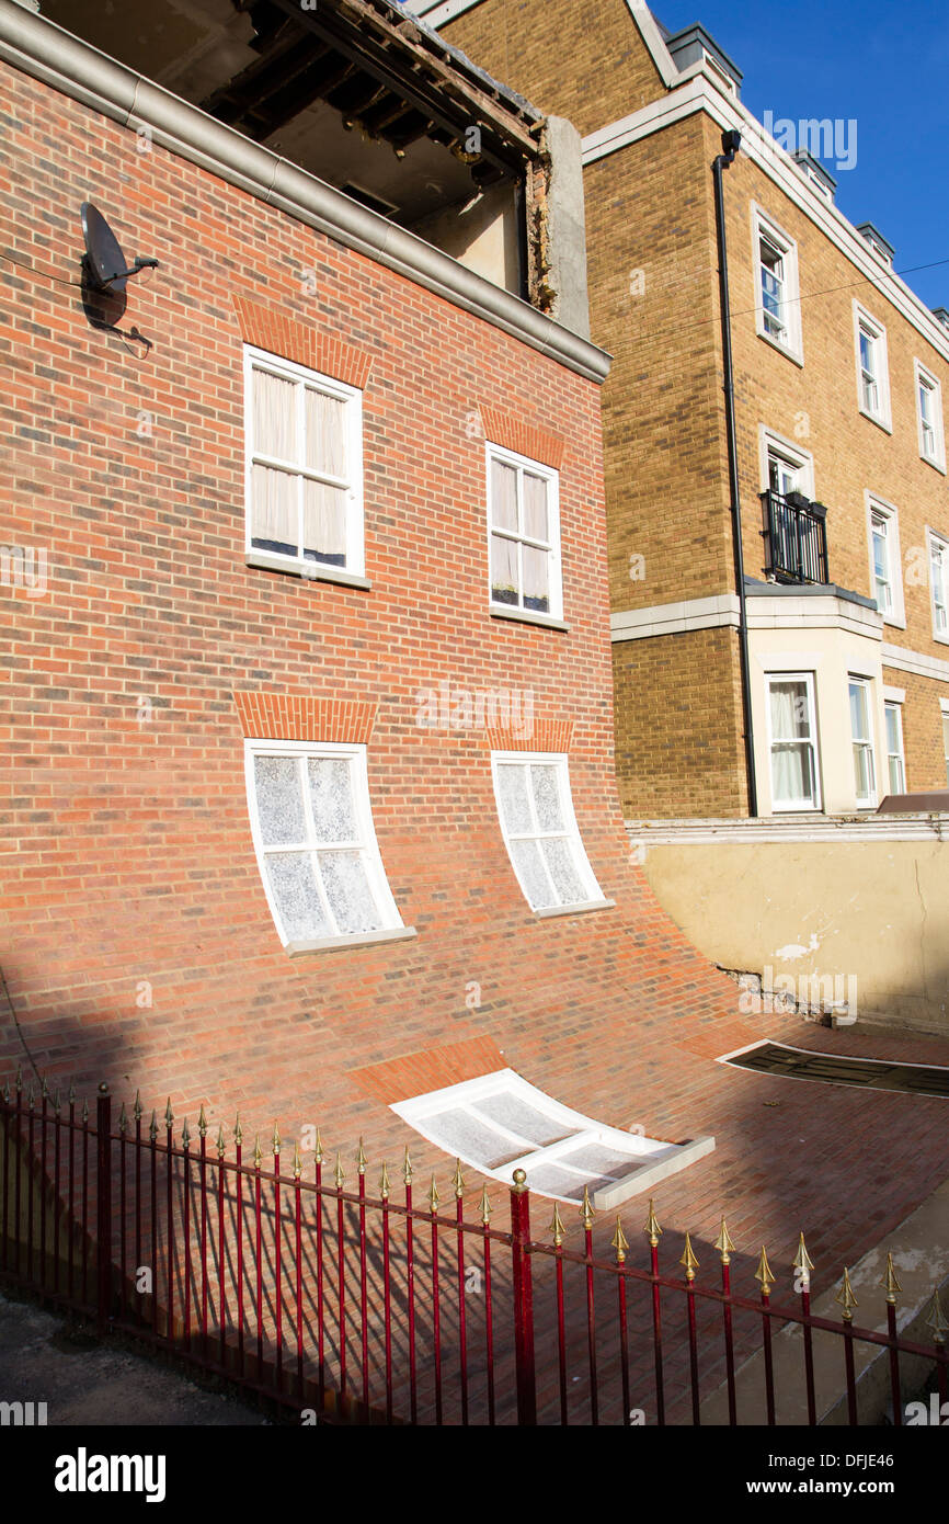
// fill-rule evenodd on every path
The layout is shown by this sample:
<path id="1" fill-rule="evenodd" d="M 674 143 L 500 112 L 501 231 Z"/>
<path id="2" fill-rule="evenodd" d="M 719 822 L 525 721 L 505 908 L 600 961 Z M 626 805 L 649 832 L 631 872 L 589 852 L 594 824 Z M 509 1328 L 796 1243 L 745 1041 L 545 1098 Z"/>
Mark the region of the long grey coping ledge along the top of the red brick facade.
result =
<path id="1" fill-rule="evenodd" d="M 603 349 L 17 0 L 0 0 L 0 58 L 123 126 L 148 126 L 171 152 L 484 319 L 568 370 L 596 383 L 606 378 L 611 357 Z"/>

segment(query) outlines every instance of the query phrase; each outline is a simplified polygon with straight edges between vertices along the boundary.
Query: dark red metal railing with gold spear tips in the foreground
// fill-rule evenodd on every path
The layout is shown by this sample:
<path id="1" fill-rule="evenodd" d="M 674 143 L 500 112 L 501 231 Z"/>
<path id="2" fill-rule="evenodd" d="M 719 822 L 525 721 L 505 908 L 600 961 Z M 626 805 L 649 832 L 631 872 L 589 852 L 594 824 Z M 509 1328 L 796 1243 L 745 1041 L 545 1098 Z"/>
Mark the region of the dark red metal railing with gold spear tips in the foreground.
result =
<path id="1" fill-rule="evenodd" d="M 721 1388 L 734 1425 L 749 1420 L 739 1398 L 754 1379 L 760 1417 L 751 1420 L 774 1425 L 788 1398 L 778 1364 L 786 1372 L 792 1335 L 778 1340 L 795 1329 L 803 1358 L 794 1381 L 812 1425 L 827 1407 L 827 1391 L 816 1390 L 815 1337 L 830 1335 L 841 1349 L 835 1394 L 850 1423 L 861 1419 L 858 1349 L 887 1352 L 894 1423 L 905 1399 L 902 1359 L 934 1367 L 940 1405 L 949 1401 L 949 1324 L 938 1292 L 928 1318 L 932 1343 L 900 1338 L 893 1260 L 882 1282 L 887 1330 L 856 1327 L 847 1271 L 841 1320 L 812 1312 L 803 1236 L 794 1260 L 798 1303 L 774 1306 L 765 1250 L 757 1298 L 733 1289 L 734 1244 L 724 1221 L 713 1245 L 721 1286 L 704 1285 L 689 1234 L 684 1277 L 660 1269 L 663 1230 L 652 1202 L 649 1268 L 638 1268 L 618 1218 L 612 1259 L 605 1239 L 597 1248 L 586 1195 L 582 1248 L 565 1247 L 558 1204 L 551 1242 L 533 1239 L 522 1172 L 510 1189 L 510 1231 L 501 1231 L 490 1227 L 487 1187 L 478 1221 L 468 1221 L 460 1166 L 454 1212 L 445 1215 L 434 1177 L 427 1207 L 413 1201 L 408 1154 L 396 1201 L 385 1166 L 378 1195 L 367 1192 L 361 1145 L 352 1190 L 340 1155 L 324 1178 L 318 1135 L 306 1178 L 296 1148 L 292 1172 L 282 1169 L 276 1126 L 265 1167 L 259 1138 L 253 1161 L 244 1160 L 239 1123 L 228 1158 L 221 1129 L 209 1149 L 204 1113 L 197 1151 L 187 1122 L 175 1141 L 171 1105 L 163 1129 L 154 1114 L 143 1129 L 137 1097 L 133 1119 L 134 1129 L 123 1106 L 113 1131 L 105 1087 L 94 1122 L 87 1105 L 76 1114 L 72 1091 L 64 1108 L 46 1084 L 38 1096 L 35 1085 L 24 1090 L 20 1074 L 12 1094 L 3 1088 L 0 1271 L 94 1317 L 102 1334 L 133 1334 L 306 1410 L 311 1420 L 699 1423 L 705 1398 Z M 751 1378 L 757 1353 L 762 1369 Z"/>

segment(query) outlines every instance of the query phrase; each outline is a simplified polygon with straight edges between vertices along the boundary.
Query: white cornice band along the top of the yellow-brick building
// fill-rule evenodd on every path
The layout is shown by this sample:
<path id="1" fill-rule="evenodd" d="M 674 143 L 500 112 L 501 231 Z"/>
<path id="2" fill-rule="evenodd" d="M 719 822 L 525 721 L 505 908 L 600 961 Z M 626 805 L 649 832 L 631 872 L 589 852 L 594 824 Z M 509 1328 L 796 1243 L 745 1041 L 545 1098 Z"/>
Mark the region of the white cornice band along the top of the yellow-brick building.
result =
<path id="1" fill-rule="evenodd" d="M 885 296 L 897 312 L 949 363 L 949 332 L 932 315 L 922 297 L 911 291 L 894 270 L 880 265 L 853 223 L 812 187 L 791 154 L 765 133 L 762 123 L 740 101 L 719 90 L 717 84 L 707 75 L 696 75 L 660 101 L 652 101 L 640 111 L 632 111 L 618 122 L 611 122 L 608 126 L 590 133 L 580 145 L 583 165 L 593 165 L 608 154 L 615 154 L 617 149 L 650 137 L 652 133 L 658 133 L 673 122 L 681 122 L 687 116 L 695 116 L 696 111 L 707 111 L 722 130 L 737 128 L 742 134 L 742 154 L 751 158 L 784 192 L 788 200 L 810 218 L 859 270 L 867 283 Z M 807 297 L 807 294 L 803 291 L 801 297 Z"/>

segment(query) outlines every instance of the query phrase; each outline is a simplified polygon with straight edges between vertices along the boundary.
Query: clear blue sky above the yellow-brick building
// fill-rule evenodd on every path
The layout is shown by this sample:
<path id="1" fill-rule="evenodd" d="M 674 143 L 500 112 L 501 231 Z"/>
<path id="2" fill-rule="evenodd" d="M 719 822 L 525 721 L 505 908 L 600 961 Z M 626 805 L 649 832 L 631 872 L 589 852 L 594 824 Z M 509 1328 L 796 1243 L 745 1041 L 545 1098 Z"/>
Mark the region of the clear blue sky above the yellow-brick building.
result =
<path id="1" fill-rule="evenodd" d="M 856 119 L 856 165 L 827 168 L 852 223 L 874 223 L 928 306 L 949 308 L 946 0 L 655 0 L 672 32 L 699 21 L 745 75 L 759 119 Z M 914 270 L 937 259 L 934 270 Z"/>

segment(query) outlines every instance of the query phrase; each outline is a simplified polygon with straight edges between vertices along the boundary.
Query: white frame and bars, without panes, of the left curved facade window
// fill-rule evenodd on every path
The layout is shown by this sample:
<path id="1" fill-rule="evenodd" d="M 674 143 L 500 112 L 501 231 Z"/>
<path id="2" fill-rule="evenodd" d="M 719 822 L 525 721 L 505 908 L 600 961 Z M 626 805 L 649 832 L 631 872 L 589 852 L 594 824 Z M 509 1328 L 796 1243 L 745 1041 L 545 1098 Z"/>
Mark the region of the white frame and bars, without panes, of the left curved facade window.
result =
<path id="1" fill-rule="evenodd" d="M 359 860 L 366 869 L 366 876 L 369 881 L 373 905 L 382 919 L 382 927 L 375 931 L 337 931 L 334 936 L 328 937 L 303 937 L 294 940 L 289 937 L 286 927 L 283 924 L 283 916 L 276 902 L 276 898 L 270 887 L 270 876 L 265 869 L 265 860 L 274 852 L 288 850 L 309 850 L 320 852 L 329 850 L 329 847 L 321 847 L 315 840 L 311 840 L 311 834 L 315 831 L 312 823 L 312 805 L 309 802 L 309 792 L 306 788 L 302 789 L 303 797 L 303 812 L 308 824 L 308 840 L 305 843 L 280 843 L 279 847 L 270 844 L 267 846 L 262 840 L 260 831 L 260 811 L 257 805 L 257 788 L 254 774 L 254 759 L 259 756 L 291 756 L 291 757 L 332 757 L 347 760 L 350 764 L 350 789 L 353 802 L 353 814 L 358 829 L 358 846 L 340 847 L 340 850 L 358 850 Z M 247 785 L 247 809 L 250 815 L 251 840 L 254 844 L 254 855 L 257 860 L 257 870 L 260 875 L 260 884 L 264 885 L 264 893 L 267 896 L 267 904 L 280 937 L 280 943 L 288 952 L 315 952 L 321 948 L 337 948 L 337 946 L 358 946 L 366 942 L 381 942 L 398 936 L 414 936 L 413 927 L 405 927 L 399 908 L 395 902 L 391 888 L 388 887 L 388 876 L 385 873 L 385 866 L 382 863 L 382 853 L 379 852 L 379 843 L 376 838 L 375 821 L 372 815 L 372 803 L 369 797 L 369 754 L 366 744 L 347 744 L 335 741 L 271 741 L 260 736 L 245 736 L 244 739 L 244 776 Z M 315 878 L 315 875 L 314 875 Z M 326 901 L 326 892 L 323 888 L 321 879 L 317 881 L 317 892 L 321 904 Z M 329 910 L 329 905 L 324 905 Z M 329 910 L 331 920 L 335 920 L 332 910 Z"/>

